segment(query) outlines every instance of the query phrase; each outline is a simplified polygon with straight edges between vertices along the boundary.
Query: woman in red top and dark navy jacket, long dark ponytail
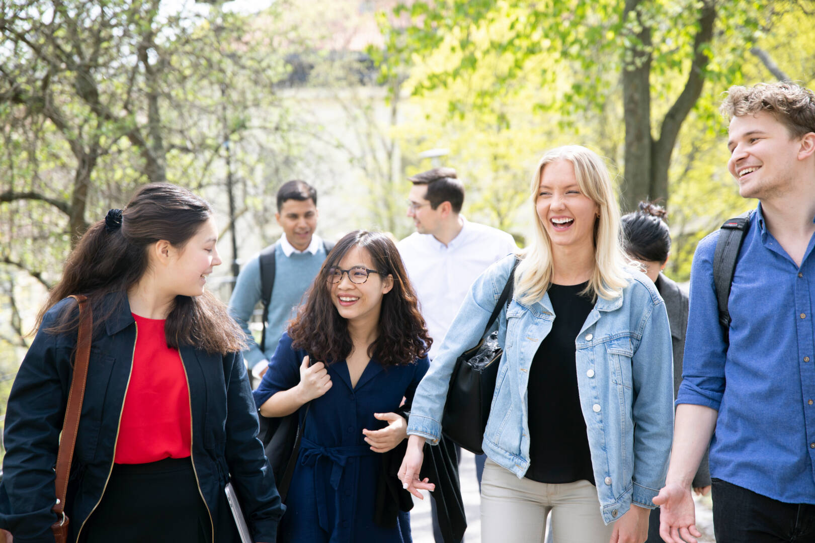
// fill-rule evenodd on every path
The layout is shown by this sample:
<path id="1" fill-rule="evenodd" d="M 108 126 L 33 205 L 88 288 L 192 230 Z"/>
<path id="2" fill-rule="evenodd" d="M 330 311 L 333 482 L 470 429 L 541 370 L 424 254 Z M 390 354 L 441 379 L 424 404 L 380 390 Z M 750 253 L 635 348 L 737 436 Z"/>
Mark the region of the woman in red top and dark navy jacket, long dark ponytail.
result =
<path id="1" fill-rule="evenodd" d="M 239 541 L 231 475 L 254 541 L 283 507 L 257 438 L 240 327 L 209 291 L 221 264 L 205 200 L 167 183 L 90 226 L 37 318 L 9 396 L 0 526 L 54 541 L 54 465 L 84 295 L 90 365 L 68 480 L 69 541 Z"/>

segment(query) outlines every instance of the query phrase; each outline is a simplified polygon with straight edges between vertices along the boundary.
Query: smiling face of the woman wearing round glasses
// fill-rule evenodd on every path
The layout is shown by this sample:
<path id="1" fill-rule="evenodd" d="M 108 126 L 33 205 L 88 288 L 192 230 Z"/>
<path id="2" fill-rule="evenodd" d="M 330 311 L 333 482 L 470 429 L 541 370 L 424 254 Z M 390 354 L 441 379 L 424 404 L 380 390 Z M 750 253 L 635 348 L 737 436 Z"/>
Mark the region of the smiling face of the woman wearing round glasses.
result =
<path id="1" fill-rule="evenodd" d="M 337 262 L 336 267 L 377 269 L 371 253 L 359 245 L 351 247 Z M 329 283 L 328 286 L 331 289 L 331 302 L 337 308 L 337 313 L 356 325 L 367 327 L 377 326 L 382 296 L 393 288 L 394 282 L 390 275 L 383 278 L 381 274 L 372 273 L 368 275 L 367 281 L 360 284 L 351 282 L 348 274 L 342 274 L 340 282 Z"/>

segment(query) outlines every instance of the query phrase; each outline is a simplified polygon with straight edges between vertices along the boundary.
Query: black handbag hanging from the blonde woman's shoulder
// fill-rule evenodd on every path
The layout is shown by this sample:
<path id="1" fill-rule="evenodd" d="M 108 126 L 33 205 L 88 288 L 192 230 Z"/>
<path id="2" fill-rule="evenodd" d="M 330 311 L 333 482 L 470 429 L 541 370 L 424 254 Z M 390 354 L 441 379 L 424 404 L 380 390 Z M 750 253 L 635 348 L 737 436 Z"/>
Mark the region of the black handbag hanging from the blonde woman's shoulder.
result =
<path id="1" fill-rule="evenodd" d="M 496 308 L 492 310 L 490 320 L 484 327 L 481 341 L 456 358 L 456 367 L 453 368 L 450 388 L 447 390 L 442 431 L 462 449 L 475 454 L 484 453 L 481 444 L 487 428 L 487 418 L 490 417 L 492 394 L 496 391 L 500 357 L 504 353 L 504 349 L 498 344 L 498 332 L 494 331 L 487 336 L 487 331 L 496 322 L 504 304 L 509 305 L 509 300 L 512 300 L 517 266 L 516 258 Z"/>

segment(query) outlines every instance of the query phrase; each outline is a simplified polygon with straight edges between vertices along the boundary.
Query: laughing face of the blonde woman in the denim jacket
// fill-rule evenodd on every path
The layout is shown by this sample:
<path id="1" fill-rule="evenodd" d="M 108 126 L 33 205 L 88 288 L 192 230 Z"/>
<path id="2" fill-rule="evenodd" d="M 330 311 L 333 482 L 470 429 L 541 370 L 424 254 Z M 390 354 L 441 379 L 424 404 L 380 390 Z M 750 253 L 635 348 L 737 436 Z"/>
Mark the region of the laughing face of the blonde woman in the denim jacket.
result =
<path id="1" fill-rule="evenodd" d="M 593 247 L 599 208 L 580 190 L 569 160 L 555 160 L 544 166 L 535 210 L 553 248 Z"/>

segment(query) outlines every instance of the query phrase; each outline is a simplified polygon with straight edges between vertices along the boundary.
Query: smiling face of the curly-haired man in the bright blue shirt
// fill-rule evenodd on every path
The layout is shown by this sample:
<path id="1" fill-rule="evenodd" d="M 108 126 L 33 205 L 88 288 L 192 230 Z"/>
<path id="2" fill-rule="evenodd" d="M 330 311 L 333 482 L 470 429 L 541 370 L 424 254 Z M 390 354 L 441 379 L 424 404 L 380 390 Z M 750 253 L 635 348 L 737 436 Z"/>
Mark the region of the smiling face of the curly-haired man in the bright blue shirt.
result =
<path id="1" fill-rule="evenodd" d="M 743 198 L 769 199 L 791 190 L 798 175 L 800 138 L 791 137 L 771 113 L 730 120 L 727 168 Z"/>

